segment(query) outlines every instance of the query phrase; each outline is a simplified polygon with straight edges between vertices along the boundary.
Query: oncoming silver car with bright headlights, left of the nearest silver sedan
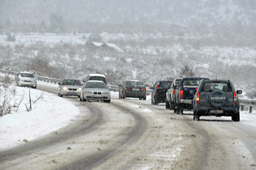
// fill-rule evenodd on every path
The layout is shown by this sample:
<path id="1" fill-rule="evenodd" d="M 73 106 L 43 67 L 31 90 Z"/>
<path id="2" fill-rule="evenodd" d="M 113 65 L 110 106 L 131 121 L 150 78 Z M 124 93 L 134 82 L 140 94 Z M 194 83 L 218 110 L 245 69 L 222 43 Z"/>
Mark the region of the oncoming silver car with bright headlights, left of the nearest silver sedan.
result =
<path id="1" fill-rule="evenodd" d="M 80 96 L 82 91 L 82 84 L 79 79 L 62 79 L 59 83 L 58 95 L 63 97 L 67 96 Z"/>

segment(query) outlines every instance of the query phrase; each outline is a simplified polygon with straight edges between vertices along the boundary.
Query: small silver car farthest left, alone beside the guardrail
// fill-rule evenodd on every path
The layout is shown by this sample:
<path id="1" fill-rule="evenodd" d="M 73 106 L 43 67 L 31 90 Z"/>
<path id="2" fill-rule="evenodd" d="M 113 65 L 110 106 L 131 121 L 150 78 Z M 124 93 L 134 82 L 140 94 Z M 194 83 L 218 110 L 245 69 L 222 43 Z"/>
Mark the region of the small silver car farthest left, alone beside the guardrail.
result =
<path id="1" fill-rule="evenodd" d="M 37 78 L 35 78 L 34 74 L 30 72 L 19 72 L 15 77 L 15 81 L 17 86 L 27 86 L 34 89 L 37 88 Z"/>

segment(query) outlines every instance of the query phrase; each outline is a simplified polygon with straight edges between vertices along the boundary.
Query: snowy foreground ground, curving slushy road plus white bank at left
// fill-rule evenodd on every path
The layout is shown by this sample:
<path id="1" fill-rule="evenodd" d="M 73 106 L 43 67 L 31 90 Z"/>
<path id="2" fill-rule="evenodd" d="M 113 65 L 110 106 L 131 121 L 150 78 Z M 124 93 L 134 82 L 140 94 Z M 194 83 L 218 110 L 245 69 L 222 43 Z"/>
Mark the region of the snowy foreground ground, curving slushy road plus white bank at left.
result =
<path id="1" fill-rule="evenodd" d="M 117 92 L 111 103 L 45 92 L 21 111 L 0 117 L 1 169 L 256 169 L 256 113 L 197 122 L 191 111 L 177 115 L 150 96 L 121 100 Z"/>

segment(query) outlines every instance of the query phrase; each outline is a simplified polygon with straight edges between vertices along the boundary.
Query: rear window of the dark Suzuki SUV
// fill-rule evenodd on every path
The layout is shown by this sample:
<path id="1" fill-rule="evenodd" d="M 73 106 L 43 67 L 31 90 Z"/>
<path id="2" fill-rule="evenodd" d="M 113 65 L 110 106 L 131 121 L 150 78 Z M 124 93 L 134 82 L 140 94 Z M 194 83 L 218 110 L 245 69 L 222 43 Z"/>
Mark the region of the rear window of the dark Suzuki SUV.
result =
<path id="1" fill-rule="evenodd" d="M 232 88 L 229 82 L 204 82 L 202 85 L 202 92 L 210 92 L 214 90 L 220 90 L 224 92 L 232 92 Z"/>

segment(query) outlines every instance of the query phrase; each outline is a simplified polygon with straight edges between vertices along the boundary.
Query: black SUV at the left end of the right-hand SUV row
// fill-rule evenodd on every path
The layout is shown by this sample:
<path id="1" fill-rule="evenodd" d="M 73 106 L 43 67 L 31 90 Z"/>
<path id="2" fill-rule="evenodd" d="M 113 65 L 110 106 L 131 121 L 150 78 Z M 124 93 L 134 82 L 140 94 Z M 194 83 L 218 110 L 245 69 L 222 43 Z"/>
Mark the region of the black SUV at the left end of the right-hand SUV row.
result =
<path id="1" fill-rule="evenodd" d="M 151 104 L 165 103 L 166 92 L 170 88 L 171 82 L 172 80 L 159 80 L 155 83 L 151 95 Z"/>

